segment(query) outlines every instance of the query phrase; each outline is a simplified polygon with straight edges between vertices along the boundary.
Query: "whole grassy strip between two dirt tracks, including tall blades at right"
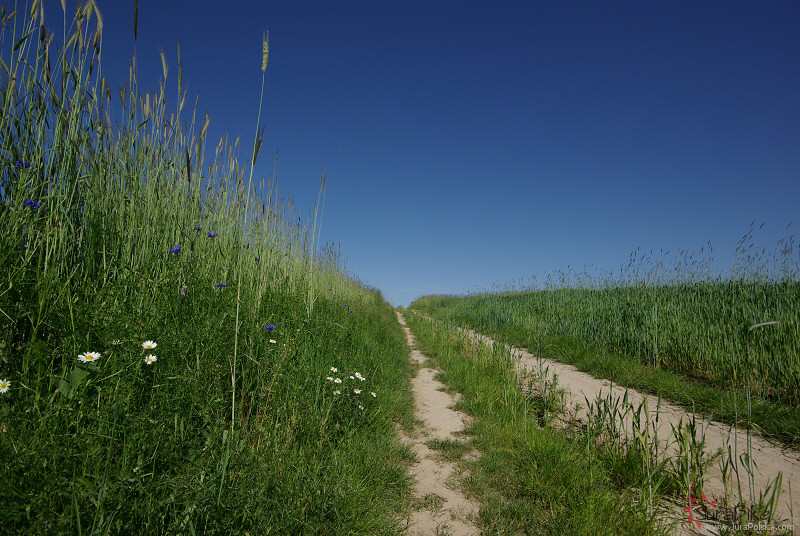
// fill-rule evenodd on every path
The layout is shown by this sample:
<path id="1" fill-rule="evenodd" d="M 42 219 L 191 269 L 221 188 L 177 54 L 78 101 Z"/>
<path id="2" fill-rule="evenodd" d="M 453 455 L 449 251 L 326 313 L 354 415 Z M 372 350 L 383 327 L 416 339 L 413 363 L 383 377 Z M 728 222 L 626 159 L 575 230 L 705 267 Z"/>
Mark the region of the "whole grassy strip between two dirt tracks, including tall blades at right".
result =
<path id="1" fill-rule="evenodd" d="M 745 463 L 708 452 L 703 422 L 692 415 L 659 437 L 659 407 L 627 393 L 567 407 L 558 377 L 540 366 L 520 376 L 517 358 L 479 342 L 452 321 L 407 311 L 421 351 L 461 394 L 474 417 L 460 444 L 431 445 L 468 474 L 462 485 L 480 502 L 483 534 L 674 534 L 711 527 L 719 534 L 793 534 L 777 513 L 781 475 L 754 489 Z M 470 455 L 472 449 L 479 456 Z M 724 493 L 709 493 L 719 468 Z M 744 467 L 744 466 L 742 466 Z M 746 481 L 743 483 L 742 481 Z M 748 486 L 750 499 L 747 499 Z M 770 527 L 770 528 L 765 528 Z"/>

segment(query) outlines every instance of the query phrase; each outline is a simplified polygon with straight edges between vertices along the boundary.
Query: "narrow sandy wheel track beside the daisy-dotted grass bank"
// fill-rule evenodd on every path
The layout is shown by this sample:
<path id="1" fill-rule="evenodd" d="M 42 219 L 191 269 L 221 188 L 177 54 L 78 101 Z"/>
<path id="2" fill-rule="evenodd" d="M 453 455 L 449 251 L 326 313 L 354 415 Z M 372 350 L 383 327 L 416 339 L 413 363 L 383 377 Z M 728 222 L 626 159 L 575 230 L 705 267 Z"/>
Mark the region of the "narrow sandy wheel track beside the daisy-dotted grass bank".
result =
<path id="1" fill-rule="evenodd" d="M 422 365 L 412 380 L 412 388 L 415 416 L 425 426 L 415 438 L 401 434 L 419 459 L 411 471 L 416 479 L 414 491 L 421 509 L 411 515 L 409 534 L 478 535 L 480 531 L 472 522 L 478 515 L 478 507 L 457 489 L 459 474 L 455 464 L 439 459 L 425 444 L 431 439 L 458 439 L 455 433 L 464 428 L 468 416 L 452 409 L 455 399 L 443 391 L 444 386 L 434 378 L 436 371 L 426 367 L 425 356 L 414 349 L 414 336 L 399 312 L 397 320 L 406 332 L 411 360 Z"/>

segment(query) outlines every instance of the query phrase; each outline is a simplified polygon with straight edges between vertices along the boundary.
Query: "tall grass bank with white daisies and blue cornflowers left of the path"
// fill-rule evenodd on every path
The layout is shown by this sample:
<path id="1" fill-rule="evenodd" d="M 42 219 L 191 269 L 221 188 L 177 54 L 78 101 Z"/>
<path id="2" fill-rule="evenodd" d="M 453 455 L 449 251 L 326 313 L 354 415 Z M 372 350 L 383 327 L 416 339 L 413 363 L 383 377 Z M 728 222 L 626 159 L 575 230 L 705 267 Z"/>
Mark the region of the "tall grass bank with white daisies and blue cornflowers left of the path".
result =
<path id="1" fill-rule="evenodd" d="M 0 533 L 401 532 L 403 332 L 260 137 L 206 162 L 180 62 L 103 79 L 92 1 L 0 15 Z"/>

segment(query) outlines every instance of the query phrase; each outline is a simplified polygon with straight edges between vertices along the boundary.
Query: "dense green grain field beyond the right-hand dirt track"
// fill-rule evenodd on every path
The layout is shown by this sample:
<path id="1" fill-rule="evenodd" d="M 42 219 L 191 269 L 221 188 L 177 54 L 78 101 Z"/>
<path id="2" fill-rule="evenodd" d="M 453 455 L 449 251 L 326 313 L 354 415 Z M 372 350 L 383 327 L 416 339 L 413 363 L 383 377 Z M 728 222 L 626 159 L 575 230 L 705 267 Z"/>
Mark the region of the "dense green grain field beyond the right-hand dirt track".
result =
<path id="1" fill-rule="evenodd" d="M 684 253 L 671 273 L 645 259 L 615 276 L 562 273 L 543 289 L 410 308 L 797 446 L 800 263 L 793 239 L 755 254 L 751 238 L 725 277 Z"/>

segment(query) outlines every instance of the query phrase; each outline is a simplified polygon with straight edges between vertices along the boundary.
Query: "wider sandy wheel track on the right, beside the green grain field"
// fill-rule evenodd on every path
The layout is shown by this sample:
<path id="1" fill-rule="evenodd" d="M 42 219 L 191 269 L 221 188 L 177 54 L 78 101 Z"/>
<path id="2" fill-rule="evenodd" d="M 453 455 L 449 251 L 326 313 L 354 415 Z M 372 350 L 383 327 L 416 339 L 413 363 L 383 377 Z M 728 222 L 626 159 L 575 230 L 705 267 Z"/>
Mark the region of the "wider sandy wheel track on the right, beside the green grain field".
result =
<path id="1" fill-rule="evenodd" d="M 491 347 L 494 344 L 494 341 L 486 336 L 470 330 L 465 331 L 487 346 Z M 621 399 L 625 394 L 624 388 L 614 385 L 612 390 L 610 381 L 590 376 L 571 365 L 547 359 L 540 360 L 530 352 L 521 348 L 509 347 L 509 349 L 513 355 L 520 358 L 517 365 L 520 373 L 529 371 L 536 372 L 547 367 L 550 375 L 556 374 L 558 376 L 558 386 L 566 390 L 566 407 L 576 409 L 577 417 L 584 421 L 587 416 L 586 399 L 593 402 L 597 400 L 598 396 L 608 396 L 609 392 L 612 393 L 612 399 L 616 397 Z M 642 394 L 631 389 L 628 389 L 627 393 L 628 399 L 634 407 L 637 407 L 642 401 L 647 399 L 651 414 L 655 414 L 655 408 L 658 404 L 657 397 Z M 671 426 L 677 426 L 681 419 L 686 423 L 690 418 L 691 414 L 685 409 L 662 401 L 657 426 L 658 437 L 662 439 L 671 437 Z M 697 416 L 697 421 L 699 425 L 701 421 L 700 416 Z M 630 430 L 630 420 L 628 420 L 627 426 L 627 429 Z M 705 421 L 703 423 L 703 430 L 705 431 L 706 452 L 713 453 L 718 449 L 723 449 L 723 451 L 727 452 L 728 445 L 730 445 L 732 452 L 735 453 L 734 459 L 736 460 L 739 460 L 741 455 L 746 452 L 747 432 L 745 430 L 731 430 L 731 426 L 714 421 L 710 423 Z M 765 490 L 769 483 L 777 477 L 779 472 L 782 473 L 783 484 L 777 505 L 776 521 L 774 523 L 776 525 L 793 525 L 795 530 L 800 529 L 800 525 L 798 525 L 798 522 L 800 522 L 800 453 L 788 448 L 771 445 L 755 434 L 752 435 L 751 445 L 753 460 L 758 467 L 755 471 L 754 479 L 756 498 L 759 492 Z M 666 447 L 666 442 L 662 443 L 662 446 Z M 674 449 L 674 445 L 672 445 L 671 448 Z M 747 473 L 741 461 L 739 461 L 739 475 L 743 496 L 749 502 L 750 492 L 748 490 Z M 735 485 L 734 477 L 734 486 Z M 712 497 L 719 498 L 725 495 L 722 473 L 718 463 L 714 463 L 709 468 L 704 487 L 709 500 L 711 500 Z M 735 489 L 731 491 L 733 492 L 732 497 L 738 499 L 738 491 Z M 778 520 L 782 520 L 782 523 Z M 711 527 L 709 527 L 709 529 L 710 528 Z M 706 526 L 704 526 L 703 529 L 704 532 L 706 532 Z M 715 531 L 712 530 L 708 533 L 714 532 Z"/>

